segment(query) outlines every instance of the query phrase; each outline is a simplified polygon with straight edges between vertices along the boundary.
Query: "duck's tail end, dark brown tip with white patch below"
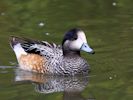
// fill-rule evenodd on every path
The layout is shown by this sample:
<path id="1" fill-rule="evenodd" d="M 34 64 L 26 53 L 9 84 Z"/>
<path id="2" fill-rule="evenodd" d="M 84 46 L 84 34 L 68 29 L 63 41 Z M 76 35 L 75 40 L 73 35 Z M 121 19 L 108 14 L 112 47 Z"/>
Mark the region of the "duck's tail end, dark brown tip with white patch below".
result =
<path id="1" fill-rule="evenodd" d="M 12 47 L 13 51 L 16 54 L 16 57 L 19 58 L 22 54 L 26 55 L 27 52 L 25 52 L 24 48 L 21 46 L 21 43 L 23 43 L 23 39 L 19 37 L 10 37 L 10 46 Z"/>

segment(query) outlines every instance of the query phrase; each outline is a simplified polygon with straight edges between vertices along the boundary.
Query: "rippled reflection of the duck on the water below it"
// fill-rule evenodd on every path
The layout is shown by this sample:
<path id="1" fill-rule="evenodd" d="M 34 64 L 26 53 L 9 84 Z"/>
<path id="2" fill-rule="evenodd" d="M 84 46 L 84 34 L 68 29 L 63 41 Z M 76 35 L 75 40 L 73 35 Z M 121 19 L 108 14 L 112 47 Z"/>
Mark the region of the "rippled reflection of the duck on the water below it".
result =
<path id="1" fill-rule="evenodd" d="M 31 81 L 35 85 L 35 91 L 39 93 L 63 92 L 64 100 L 83 100 L 81 92 L 88 84 L 88 77 L 44 76 L 43 74 L 16 69 L 15 81 Z"/>

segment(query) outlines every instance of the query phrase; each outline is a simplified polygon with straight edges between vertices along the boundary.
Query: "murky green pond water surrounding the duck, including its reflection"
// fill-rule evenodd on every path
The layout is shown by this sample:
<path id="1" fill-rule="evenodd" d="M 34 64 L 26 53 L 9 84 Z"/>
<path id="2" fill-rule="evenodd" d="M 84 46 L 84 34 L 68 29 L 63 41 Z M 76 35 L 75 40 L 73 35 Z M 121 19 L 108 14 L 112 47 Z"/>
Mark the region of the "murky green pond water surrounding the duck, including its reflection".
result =
<path id="1" fill-rule="evenodd" d="M 0 99 L 132 100 L 132 4 L 131 0 L 1 0 Z M 17 70 L 9 36 L 60 44 L 64 32 L 74 27 L 85 31 L 96 52 L 82 53 L 91 65 L 89 76 L 53 78 Z"/>

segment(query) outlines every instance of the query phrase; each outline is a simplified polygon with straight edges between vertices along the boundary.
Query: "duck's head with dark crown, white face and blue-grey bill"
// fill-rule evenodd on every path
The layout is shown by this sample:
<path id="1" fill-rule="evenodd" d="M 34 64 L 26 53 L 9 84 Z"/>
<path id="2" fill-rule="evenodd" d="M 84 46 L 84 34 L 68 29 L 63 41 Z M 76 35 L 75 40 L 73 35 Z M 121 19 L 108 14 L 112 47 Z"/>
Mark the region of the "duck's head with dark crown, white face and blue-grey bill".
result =
<path id="1" fill-rule="evenodd" d="M 94 54 L 94 51 L 87 43 L 85 33 L 81 29 L 71 29 L 64 35 L 62 41 L 63 53 L 85 51 Z"/>

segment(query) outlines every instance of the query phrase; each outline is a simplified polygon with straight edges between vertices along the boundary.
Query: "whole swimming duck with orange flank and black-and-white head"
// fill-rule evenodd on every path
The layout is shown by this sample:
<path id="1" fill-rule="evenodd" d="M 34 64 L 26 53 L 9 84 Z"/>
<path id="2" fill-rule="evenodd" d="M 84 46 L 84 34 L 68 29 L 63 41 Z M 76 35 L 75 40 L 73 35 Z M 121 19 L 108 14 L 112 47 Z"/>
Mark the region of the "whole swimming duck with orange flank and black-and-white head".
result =
<path id="1" fill-rule="evenodd" d="M 79 28 L 67 31 L 61 45 L 11 36 L 10 46 L 20 69 L 46 75 L 87 75 L 90 65 L 80 52 L 95 53 Z"/>

